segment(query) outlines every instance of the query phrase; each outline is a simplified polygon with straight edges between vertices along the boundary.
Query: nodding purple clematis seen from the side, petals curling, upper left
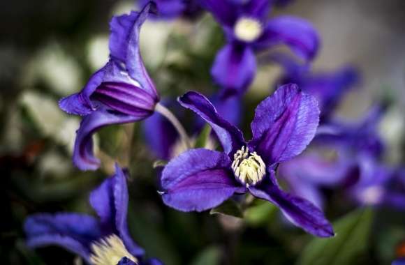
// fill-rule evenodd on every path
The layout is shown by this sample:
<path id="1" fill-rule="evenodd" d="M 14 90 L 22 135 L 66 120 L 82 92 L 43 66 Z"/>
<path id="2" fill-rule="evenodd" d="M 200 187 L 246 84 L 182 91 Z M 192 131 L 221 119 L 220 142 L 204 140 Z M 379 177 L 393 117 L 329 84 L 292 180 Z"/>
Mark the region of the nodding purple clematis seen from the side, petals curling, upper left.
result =
<path id="1" fill-rule="evenodd" d="M 112 18 L 110 61 L 90 77 L 82 91 L 59 102 L 65 112 L 83 116 L 73 152 L 73 162 L 82 170 L 99 167 L 91 139 L 96 130 L 145 119 L 154 113 L 159 102 L 138 45 L 140 27 L 153 6 L 148 3 L 140 13 Z"/>

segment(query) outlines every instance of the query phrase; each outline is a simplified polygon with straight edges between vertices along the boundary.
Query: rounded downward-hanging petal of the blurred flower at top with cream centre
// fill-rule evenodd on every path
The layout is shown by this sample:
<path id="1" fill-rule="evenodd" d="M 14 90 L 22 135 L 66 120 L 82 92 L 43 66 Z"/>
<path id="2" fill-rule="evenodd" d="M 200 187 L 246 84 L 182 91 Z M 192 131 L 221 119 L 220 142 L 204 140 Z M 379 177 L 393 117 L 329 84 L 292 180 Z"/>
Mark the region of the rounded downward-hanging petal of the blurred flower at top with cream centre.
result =
<path id="1" fill-rule="evenodd" d="M 256 74 L 256 58 L 246 45 L 228 44 L 216 54 L 211 75 L 225 89 L 242 94 Z"/>

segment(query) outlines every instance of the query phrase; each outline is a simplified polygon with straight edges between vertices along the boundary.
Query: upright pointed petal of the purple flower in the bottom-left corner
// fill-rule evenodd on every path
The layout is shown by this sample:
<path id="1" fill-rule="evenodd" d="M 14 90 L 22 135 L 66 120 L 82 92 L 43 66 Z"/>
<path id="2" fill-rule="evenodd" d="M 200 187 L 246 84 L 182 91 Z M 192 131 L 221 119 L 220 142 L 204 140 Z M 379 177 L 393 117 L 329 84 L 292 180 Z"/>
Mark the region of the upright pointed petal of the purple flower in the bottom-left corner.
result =
<path id="1" fill-rule="evenodd" d="M 128 188 L 126 176 L 117 164 L 115 165 L 115 175 L 103 181 L 98 188 L 91 192 L 90 204 L 100 217 L 105 233 L 117 234 L 132 255 L 144 254 L 144 250 L 135 244 L 128 232 L 126 222 Z"/>

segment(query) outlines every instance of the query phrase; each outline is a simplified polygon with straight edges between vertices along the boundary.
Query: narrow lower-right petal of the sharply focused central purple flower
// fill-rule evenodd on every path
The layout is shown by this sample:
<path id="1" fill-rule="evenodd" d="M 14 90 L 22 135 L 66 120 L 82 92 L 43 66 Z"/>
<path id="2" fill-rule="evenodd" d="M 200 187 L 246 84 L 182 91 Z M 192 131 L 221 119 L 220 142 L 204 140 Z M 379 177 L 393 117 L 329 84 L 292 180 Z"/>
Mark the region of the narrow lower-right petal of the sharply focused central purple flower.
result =
<path id="1" fill-rule="evenodd" d="M 334 236 L 332 225 L 326 220 L 322 211 L 306 199 L 283 192 L 267 179 L 260 185 L 249 188 L 249 191 L 253 196 L 277 205 L 288 220 L 310 234 L 319 237 Z"/>

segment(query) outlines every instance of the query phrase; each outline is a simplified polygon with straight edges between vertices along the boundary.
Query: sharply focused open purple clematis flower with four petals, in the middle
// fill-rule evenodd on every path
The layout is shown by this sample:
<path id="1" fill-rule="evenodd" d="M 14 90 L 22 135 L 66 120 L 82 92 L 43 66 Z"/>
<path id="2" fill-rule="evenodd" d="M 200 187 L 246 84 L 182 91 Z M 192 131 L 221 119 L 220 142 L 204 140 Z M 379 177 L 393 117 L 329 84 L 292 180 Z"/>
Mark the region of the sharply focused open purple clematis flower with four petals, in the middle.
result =
<path id="1" fill-rule="evenodd" d="M 333 236 L 321 210 L 306 199 L 283 192 L 274 172 L 279 162 L 297 156 L 314 137 L 319 119 L 314 97 L 302 93 L 295 84 L 281 86 L 256 108 L 249 142 L 200 93 L 186 93 L 179 103 L 212 126 L 223 151 L 191 149 L 171 160 L 161 176 L 165 204 L 179 211 L 205 211 L 234 193 L 250 192 L 279 206 L 307 232 Z"/>

